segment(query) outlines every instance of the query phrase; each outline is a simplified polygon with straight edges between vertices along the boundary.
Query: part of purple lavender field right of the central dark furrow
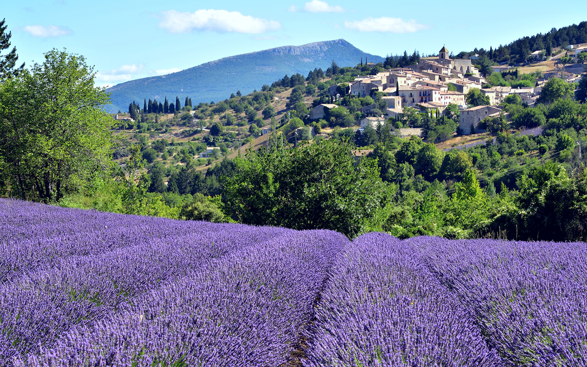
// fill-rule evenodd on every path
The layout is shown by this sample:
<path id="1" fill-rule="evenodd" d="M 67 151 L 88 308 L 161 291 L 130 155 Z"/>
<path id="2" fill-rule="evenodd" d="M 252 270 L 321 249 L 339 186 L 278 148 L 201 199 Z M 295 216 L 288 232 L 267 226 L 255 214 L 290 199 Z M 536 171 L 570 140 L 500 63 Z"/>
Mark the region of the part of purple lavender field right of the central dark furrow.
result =
<path id="1" fill-rule="evenodd" d="M 586 366 L 587 244 L 348 245 L 322 292 L 305 366 Z"/>

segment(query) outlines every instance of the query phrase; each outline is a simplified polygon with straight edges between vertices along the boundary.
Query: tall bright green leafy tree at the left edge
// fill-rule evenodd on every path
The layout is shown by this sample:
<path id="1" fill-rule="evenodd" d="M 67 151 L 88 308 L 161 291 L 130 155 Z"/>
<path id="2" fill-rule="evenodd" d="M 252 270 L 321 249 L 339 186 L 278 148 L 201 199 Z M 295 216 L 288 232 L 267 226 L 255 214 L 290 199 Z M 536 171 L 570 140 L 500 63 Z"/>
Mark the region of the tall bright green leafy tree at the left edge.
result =
<path id="1" fill-rule="evenodd" d="M 114 119 L 83 56 L 56 49 L 0 83 L 0 182 L 49 203 L 110 173 Z"/>

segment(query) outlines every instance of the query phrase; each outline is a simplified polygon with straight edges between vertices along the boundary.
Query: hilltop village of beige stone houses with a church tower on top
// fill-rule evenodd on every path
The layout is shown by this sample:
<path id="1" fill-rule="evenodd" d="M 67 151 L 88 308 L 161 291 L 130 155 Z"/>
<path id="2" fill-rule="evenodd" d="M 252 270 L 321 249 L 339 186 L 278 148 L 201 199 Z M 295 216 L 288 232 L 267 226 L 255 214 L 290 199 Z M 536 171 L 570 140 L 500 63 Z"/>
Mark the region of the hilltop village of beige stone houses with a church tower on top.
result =
<path id="1" fill-rule="evenodd" d="M 499 70 L 503 68 L 499 66 L 494 68 L 494 72 Z M 364 129 L 367 124 L 375 128 L 378 123 L 383 124 L 390 117 L 396 119 L 406 107 L 412 107 L 420 113 L 441 114 L 452 103 L 460 110 L 458 128 L 462 134 L 484 132 L 485 129 L 477 128 L 478 124 L 487 117 L 500 116 L 499 105 L 511 93 L 515 93 L 521 97 L 522 102 L 531 106 L 534 105 L 541 91 L 539 86 L 515 89 L 510 86 L 483 87 L 486 83 L 487 81 L 480 75 L 479 69 L 473 65 L 471 59 L 451 59 L 450 52 L 443 46 L 437 57 L 420 58 L 414 65 L 386 70 L 376 75 L 360 76 L 348 85 L 349 93 L 355 96 L 365 97 L 373 95 L 373 92 L 385 94 L 382 97 L 387 102 L 384 115 L 365 117 L 361 121 L 361 129 Z M 539 83 L 544 83 L 544 80 Z M 331 86 L 330 95 L 340 98 L 340 94 L 336 92 L 340 89 L 339 86 Z M 483 96 L 488 97 L 488 105 L 467 108 L 465 96 L 473 88 L 477 88 Z M 316 106 L 309 113 L 309 118 L 321 119 L 326 110 L 333 107 L 336 105 Z M 362 111 L 369 113 L 375 107 L 375 105 L 366 106 Z M 422 136 L 421 129 L 400 129 L 398 133 L 402 137 L 412 134 Z"/>

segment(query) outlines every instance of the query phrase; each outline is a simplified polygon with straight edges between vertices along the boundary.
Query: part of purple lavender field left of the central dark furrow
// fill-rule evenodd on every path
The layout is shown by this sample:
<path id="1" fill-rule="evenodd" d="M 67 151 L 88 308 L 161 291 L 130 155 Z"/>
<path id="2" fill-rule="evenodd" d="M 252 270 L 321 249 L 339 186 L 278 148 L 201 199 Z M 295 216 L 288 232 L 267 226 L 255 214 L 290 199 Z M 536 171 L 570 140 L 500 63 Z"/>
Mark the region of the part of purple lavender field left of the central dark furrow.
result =
<path id="1" fill-rule="evenodd" d="M 0 238 L 7 366 L 281 365 L 348 243 L 11 200 Z"/>

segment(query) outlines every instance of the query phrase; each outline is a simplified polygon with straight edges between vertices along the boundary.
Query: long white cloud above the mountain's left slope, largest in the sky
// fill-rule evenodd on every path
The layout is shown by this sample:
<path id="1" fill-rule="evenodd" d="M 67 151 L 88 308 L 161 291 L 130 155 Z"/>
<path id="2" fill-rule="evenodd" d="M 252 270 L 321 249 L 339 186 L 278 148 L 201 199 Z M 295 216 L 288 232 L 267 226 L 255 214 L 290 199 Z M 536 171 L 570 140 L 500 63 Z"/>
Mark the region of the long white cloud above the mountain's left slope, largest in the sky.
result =
<path id="1" fill-rule="evenodd" d="M 163 12 L 159 27 L 170 33 L 197 31 L 264 33 L 281 29 L 281 23 L 225 10 L 200 9 L 193 13 Z"/>

